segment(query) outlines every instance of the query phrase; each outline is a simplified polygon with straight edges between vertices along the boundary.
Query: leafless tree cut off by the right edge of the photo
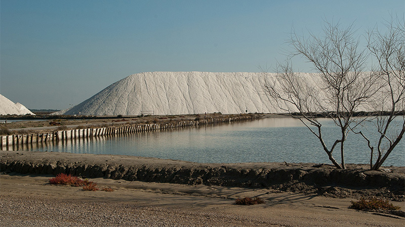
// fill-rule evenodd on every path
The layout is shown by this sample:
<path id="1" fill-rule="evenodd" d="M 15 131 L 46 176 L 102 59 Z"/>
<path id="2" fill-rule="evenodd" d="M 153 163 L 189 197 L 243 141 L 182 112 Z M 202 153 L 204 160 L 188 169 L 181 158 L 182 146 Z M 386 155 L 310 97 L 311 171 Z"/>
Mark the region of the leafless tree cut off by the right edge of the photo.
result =
<path id="1" fill-rule="evenodd" d="M 358 132 L 368 142 L 370 167 L 374 170 L 384 163 L 405 133 L 405 21 L 391 17 L 385 28 L 384 33 L 378 28 L 370 31 L 367 46 L 377 60 L 373 71 L 384 85 L 374 102 L 376 110 L 380 110 L 374 121 L 379 134 L 375 162 L 374 146 L 365 134 Z"/>

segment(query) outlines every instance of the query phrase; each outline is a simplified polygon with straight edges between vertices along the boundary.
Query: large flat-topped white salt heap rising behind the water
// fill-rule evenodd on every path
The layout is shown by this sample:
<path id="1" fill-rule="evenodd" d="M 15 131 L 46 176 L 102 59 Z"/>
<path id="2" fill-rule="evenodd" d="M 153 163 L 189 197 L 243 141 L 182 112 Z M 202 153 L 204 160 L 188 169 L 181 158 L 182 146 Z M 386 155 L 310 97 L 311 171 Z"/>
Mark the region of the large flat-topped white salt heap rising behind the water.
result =
<path id="1" fill-rule="evenodd" d="M 270 73 L 149 72 L 128 76 L 67 110 L 66 115 L 179 115 L 282 112 L 264 91 Z M 305 74 L 317 84 L 318 77 Z"/>

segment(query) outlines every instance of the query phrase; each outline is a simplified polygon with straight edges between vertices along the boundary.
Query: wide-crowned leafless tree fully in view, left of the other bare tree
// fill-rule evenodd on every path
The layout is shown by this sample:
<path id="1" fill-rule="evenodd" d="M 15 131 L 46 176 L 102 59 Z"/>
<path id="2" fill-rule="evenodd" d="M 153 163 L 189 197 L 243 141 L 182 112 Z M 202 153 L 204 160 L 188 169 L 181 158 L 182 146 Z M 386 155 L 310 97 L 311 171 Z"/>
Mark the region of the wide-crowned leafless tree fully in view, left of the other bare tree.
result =
<path id="1" fill-rule="evenodd" d="M 290 44 L 294 49 L 290 56 L 299 55 L 311 63 L 317 76 L 312 80 L 303 78 L 293 72 L 291 60 L 287 60 L 278 64 L 277 76 L 266 82 L 265 90 L 279 108 L 290 112 L 318 138 L 337 168 L 345 168 L 344 142 L 350 128 L 360 124 L 353 120 L 353 113 L 378 91 L 375 75 L 364 71 L 365 50 L 359 50 L 352 26 L 342 29 L 339 24 L 328 22 L 325 22 L 322 37 L 312 33 L 309 38 L 299 37 L 293 31 Z M 293 112 L 298 112 L 299 116 Z M 340 129 L 339 138 L 330 147 L 323 140 L 319 112 L 331 117 Z M 333 157 L 338 145 L 340 164 Z"/>

